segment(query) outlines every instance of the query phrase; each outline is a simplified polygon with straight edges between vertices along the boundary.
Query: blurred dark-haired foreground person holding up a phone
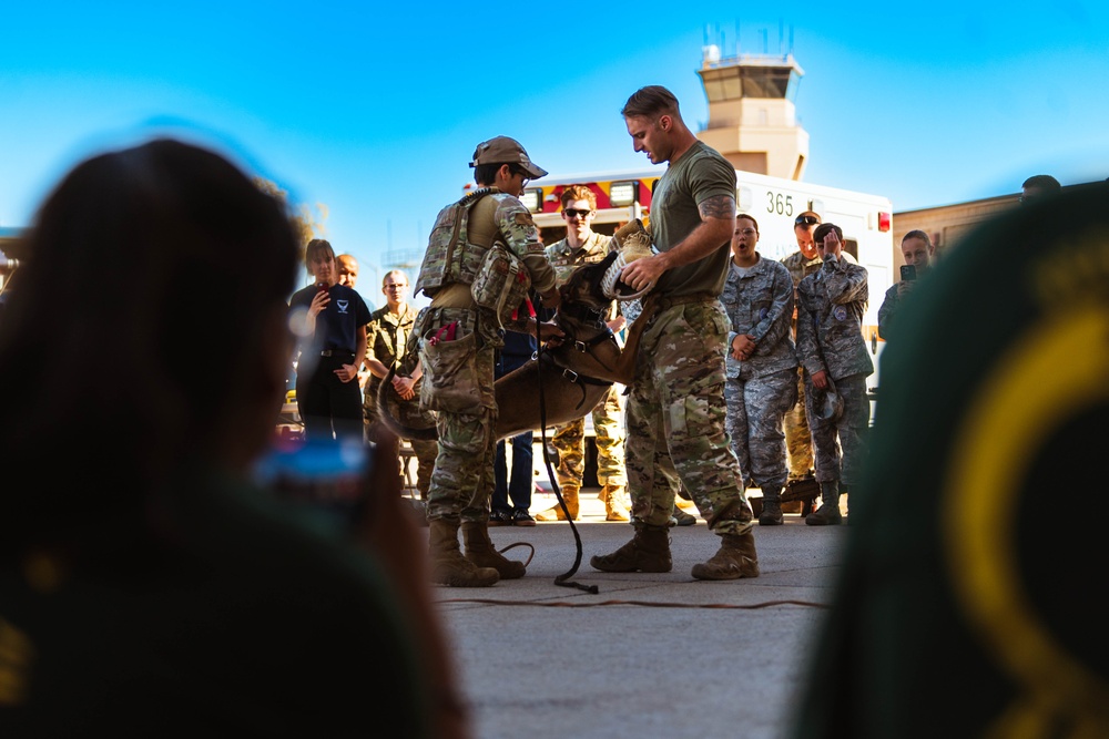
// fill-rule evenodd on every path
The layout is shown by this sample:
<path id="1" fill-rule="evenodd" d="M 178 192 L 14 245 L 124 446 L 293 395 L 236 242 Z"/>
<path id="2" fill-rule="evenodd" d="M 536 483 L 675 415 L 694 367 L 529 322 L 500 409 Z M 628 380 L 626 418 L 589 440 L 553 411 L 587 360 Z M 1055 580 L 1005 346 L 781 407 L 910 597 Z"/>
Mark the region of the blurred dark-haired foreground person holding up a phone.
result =
<path id="1" fill-rule="evenodd" d="M 466 736 L 396 494 L 368 489 L 357 547 L 251 482 L 293 347 L 282 206 L 157 140 L 78 165 L 29 238 L 0 326 L 0 736 Z"/>

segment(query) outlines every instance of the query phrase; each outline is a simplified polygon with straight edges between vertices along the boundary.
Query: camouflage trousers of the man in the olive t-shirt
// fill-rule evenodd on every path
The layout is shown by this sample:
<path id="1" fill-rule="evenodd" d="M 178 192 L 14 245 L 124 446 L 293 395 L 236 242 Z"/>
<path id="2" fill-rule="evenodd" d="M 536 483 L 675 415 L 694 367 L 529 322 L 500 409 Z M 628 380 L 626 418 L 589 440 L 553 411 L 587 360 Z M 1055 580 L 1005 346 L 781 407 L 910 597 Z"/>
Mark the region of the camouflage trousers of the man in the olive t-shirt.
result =
<path id="1" fill-rule="evenodd" d="M 729 328 L 712 300 L 661 310 L 643 331 L 624 447 L 637 522 L 667 526 L 680 480 L 718 534 L 751 530 L 740 463 L 724 430 Z"/>

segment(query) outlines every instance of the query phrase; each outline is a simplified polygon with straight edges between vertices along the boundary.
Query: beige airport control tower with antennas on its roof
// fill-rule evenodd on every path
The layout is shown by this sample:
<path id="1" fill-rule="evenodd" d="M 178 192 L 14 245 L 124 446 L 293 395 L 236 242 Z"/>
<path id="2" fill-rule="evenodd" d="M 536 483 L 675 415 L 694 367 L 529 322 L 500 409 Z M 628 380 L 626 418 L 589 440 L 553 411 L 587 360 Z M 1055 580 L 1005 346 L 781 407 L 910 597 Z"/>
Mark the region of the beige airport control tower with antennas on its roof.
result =
<path id="1" fill-rule="evenodd" d="M 709 124 L 696 136 L 736 170 L 801 179 L 808 162 L 808 132 L 797 125 L 794 99 L 804 71 L 793 54 L 736 54 L 703 49 L 701 83 Z"/>

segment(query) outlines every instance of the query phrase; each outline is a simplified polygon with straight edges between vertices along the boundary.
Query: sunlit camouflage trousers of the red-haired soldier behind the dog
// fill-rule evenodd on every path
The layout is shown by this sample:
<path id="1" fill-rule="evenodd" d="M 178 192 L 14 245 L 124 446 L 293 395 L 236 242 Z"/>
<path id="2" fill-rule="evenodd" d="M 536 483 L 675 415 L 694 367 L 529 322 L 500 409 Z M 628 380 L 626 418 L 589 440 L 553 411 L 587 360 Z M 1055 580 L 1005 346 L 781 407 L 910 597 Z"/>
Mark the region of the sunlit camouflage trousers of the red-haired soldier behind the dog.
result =
<path id="1" fill-rule="evenodd" d="M 597 434 L 597 482 L 601 485 L 627 485 L 624 473 L 623 408 L 617 386 L 593 409 L 593 431 Z M 558 451 L 558 484 L 560 487 L 581 486 L 586 473 L 586 419 L 563 423 L 554 430 L 551 445 Z"/>

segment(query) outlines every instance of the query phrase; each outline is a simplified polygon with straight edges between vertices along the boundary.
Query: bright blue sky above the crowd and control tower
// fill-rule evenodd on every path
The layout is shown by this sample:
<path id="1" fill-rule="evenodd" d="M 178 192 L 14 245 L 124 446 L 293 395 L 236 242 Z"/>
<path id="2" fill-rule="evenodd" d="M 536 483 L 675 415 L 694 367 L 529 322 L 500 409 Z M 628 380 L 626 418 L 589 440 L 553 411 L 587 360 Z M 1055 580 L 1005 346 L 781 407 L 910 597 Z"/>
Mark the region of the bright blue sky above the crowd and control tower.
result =
<path id="1" fill-rule="evenodd" d="M 423 248 L 506 134 L 552 174 L 649 166 L 619 110 L 644 84 L 708 117 L 706 29 L 725 54 L 792 50 L 805 179 L 894 209 L 1109 176 L 1109 6 L 929 3 L 6 3 L 0 226 L 31 223 L 81 158 L 173 134 L 327 206 L 363 263 Z M 721 38 L 722 34 L 722 38 Z M 784 44 L 784 48 L 783 48 Z M 378 283 L 379 284 L 379 283 Z"/>

